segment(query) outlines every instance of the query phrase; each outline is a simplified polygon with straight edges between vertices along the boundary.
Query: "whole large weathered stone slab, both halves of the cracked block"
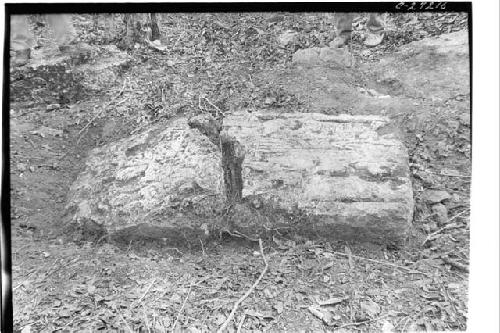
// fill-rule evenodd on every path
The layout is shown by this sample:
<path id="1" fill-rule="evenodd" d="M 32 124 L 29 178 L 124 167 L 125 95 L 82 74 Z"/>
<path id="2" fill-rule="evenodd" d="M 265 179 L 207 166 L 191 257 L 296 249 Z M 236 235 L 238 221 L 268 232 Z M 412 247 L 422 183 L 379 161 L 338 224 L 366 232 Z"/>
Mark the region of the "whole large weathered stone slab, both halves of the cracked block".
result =
<path id="1" fill-rule="evenodd" d="M 240 112 L 165 126 L 94 149 L 70 220 L 154 226 L 149 237 L 223 227 L 375 242 L 410 227 L 408 156 L 386 118 Z"/>

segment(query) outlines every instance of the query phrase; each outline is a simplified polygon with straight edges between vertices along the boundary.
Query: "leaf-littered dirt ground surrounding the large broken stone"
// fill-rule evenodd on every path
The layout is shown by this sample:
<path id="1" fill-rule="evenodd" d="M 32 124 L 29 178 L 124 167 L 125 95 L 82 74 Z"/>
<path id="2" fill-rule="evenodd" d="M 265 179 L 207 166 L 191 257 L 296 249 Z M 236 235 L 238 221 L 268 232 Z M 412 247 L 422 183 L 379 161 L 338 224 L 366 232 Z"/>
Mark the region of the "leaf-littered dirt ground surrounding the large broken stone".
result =
<path id="1" fill-rule="evenodd" d="M 471 175 L 466 20 L 457 13 L 391 14 L 386 40 L 370 49 L 362 46 L 366 17 L 360 15 L 350 47 L 356 65 L 318 71 L 294 67 L 291 55 L 328 44 L 328 15 L 163 15 L 168 48 L 129 50 L 131 64 L 117 70 L 110 87 L 53 109 L 43 95 L 11 98 L 16 330 L 216 331 L 265 267 L 229 331 L 465 330 Z M 105 31 L 91 22 L 90 15 L 75 18 L 81 40 L 101 50 Z M 279 45 L 277 37 L 289 29 L 297 39 Z M 43 26 L 35 32 L 41 43 L 50 41 Z M 225 234 L 175 246 L 62 234 L 66 194 L 88 151 L 195 113 L 199 96 L 223 110 L 390 117 L 404 134 L 413 174 L 414 231 L 406 246 L 286 235 L 264 240 L 264 260 L 258 243 Z M 449 195 L 445 221 L 428 204 L 429 190 Z"/>

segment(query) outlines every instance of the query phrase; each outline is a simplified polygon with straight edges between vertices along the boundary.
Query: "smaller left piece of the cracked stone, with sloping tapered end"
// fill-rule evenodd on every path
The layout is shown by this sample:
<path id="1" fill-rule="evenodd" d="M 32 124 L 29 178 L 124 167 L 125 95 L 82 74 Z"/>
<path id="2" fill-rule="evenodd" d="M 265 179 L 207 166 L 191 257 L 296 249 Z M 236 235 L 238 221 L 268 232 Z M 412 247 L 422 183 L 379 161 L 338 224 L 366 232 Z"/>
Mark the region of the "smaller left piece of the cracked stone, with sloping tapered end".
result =
<path id="1" fill-rule="evenodd" d="M 174 120 L 92 150 L 70 189 L 69 222 L 110 233 L 146 224 L 149 237 L 203 233 L 225 204 L 221 169 L 218 147 Z"/>

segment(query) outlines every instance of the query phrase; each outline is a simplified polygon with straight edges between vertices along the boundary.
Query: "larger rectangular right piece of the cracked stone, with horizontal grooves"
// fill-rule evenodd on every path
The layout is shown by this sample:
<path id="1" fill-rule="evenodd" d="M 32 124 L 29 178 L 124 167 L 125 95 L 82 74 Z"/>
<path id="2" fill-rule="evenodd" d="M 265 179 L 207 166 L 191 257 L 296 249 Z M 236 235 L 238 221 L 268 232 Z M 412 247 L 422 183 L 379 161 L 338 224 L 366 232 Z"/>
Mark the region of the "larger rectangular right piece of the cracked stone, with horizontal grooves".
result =
<path id="1" fill-rule="evenodd" d="M 267 229 L 401 239 L 413 194 L 406 149 L 388 124 L 378 116 L 242 112 L 225 118 L 223 134 L 245 150 L 243 200 L 303 216 L 298 225 L 271 220 Z"/>

